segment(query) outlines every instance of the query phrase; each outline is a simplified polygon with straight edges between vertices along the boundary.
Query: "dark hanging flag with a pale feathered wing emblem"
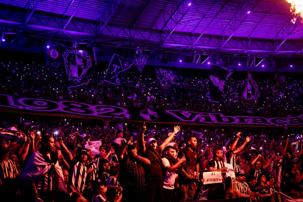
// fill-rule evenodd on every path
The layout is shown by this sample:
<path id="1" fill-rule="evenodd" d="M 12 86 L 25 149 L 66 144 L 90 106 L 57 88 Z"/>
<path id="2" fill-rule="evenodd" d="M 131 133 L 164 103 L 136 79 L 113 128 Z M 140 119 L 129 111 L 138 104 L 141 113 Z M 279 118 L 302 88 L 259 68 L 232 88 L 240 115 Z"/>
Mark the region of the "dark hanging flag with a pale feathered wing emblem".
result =
<path id="1" fill-rule="evenodd" d="M 221 100 L 225 80 L 233 73 L 218 65 L 211 65 L 209 74 L 209 92 L 206 95 L 212 102 L 219 103 Z"/>

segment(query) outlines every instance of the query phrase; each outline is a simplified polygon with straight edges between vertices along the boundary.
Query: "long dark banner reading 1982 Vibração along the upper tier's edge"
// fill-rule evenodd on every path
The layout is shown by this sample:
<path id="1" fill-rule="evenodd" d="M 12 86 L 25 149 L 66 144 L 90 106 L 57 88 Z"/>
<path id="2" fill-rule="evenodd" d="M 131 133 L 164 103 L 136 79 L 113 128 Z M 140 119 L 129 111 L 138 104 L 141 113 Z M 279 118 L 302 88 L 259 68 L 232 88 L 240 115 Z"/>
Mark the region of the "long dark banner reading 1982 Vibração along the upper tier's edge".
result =
<path id="1" fill-rule="evenodd" d="M 156 121 L 165 123 L 187 122 L 220 125 L 255 125 L 255 126 L 303 126 L 301 115 L 261 116 L 261 115 L 228 115 L 182 110 L 163 110 L 150 108 L 119 107 L 103 104 L 87 104 L 75 101 L 52 101 L 39 98 L 15 98 L 0 94 L 0 108 L 14 111 L 30 111 L 36 114 L 48 113 L 80 115 L 95 118 L 123 118 L 131 121 Z"/>

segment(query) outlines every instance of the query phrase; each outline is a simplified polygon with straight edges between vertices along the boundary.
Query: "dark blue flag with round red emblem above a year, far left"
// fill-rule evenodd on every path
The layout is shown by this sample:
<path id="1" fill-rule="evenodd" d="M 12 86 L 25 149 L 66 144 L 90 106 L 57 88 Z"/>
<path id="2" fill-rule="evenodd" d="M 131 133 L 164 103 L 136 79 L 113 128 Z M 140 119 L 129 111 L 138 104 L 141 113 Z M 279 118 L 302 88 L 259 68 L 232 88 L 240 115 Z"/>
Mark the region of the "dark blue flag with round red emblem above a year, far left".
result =
<path id="1" fill-rule="evenodd" d="M 58 42 L 45 41 L 45 43 L 46 44 L 42 46 L 42 53 L 46 67 L 62 67 Z"/>

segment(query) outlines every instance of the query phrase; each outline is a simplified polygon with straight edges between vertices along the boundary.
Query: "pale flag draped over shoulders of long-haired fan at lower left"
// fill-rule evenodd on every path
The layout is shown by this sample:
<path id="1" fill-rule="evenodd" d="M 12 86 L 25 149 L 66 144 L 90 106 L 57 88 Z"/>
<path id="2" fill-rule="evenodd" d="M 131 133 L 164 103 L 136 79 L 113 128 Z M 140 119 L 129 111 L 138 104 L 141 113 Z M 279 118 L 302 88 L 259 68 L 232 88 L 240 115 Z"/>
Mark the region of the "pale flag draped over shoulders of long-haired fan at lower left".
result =
<path id="1" fill-rule="evenodd" d="M 28 184 L 42 177 L 49 169 L 54 167 L 59 176 L 58 190 L 68 193 L 64 183 L 62 168 L 59 166 L 58 161 L 53 158 L 53 155 L 54 154 L 51 154 L 52 159 L 49 159 L 46 155 L 41 154 L 40 150 L 35 151 L 26 164 L 24 171 L 19 175 L 20 180 L 22 180 L 24 184 Z"/>

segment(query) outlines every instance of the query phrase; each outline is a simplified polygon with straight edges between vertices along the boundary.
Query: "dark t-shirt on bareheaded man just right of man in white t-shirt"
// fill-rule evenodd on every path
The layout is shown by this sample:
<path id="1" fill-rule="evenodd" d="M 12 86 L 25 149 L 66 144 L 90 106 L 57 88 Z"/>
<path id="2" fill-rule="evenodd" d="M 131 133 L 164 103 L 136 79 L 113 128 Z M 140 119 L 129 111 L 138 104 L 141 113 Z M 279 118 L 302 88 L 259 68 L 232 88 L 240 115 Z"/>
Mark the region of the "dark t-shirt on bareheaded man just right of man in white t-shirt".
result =
<path id="1" fill-rule="evenodd" d="M 191 176 L 191 178 L 194 178 L 196 165 L 199 163 L 198 152 L 196 150 L 191 151 L 188 147 L 185 147 L 179 151 L 178 158 L 182 158 L 183 154 L 186 158 L 183 169 Z"/>

